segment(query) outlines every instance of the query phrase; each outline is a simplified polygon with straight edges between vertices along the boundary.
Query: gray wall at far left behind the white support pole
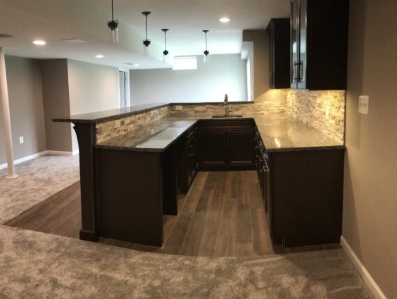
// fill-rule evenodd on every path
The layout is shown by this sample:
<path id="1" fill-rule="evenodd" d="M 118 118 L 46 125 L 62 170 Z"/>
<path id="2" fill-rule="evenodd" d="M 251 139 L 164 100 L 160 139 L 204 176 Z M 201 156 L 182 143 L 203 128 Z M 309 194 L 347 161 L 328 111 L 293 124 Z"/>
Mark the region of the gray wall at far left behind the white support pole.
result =
<path id="1" fill-rule="evenodd" d="M 8 97 L 14 159 L 46 149 L 40 63 L 38 60 L 6 56 Z M 24 143 L 20 144 L 20 136 Z M 0 165 L 6 163 L 3 112 L 0 105 Z"/>

